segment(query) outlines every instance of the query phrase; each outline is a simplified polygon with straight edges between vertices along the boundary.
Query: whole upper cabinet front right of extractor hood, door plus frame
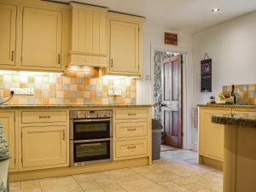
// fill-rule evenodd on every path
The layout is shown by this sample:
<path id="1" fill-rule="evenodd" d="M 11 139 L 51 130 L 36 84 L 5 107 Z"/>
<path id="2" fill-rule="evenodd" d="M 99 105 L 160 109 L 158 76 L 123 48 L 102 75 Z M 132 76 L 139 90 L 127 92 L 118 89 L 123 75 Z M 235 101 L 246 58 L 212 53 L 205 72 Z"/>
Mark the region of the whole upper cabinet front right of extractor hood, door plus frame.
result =
<path id="1" fill-rule="evenodd" d="M 108 73 L 142 74 L 142 22 L 142 18 L 109 14 Z"/>

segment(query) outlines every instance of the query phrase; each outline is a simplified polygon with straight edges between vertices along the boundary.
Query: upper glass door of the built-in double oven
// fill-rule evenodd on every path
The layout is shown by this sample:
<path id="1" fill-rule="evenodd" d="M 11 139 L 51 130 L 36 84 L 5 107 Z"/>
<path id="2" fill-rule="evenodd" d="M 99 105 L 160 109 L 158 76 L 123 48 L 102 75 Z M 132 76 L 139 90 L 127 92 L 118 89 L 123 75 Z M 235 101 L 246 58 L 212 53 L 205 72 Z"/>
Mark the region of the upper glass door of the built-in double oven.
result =
<path id="1" fill-rule="evenodd" d="M 70 138 L 73 140 L 112 137 L 112 119 L 73 119 Z"/>

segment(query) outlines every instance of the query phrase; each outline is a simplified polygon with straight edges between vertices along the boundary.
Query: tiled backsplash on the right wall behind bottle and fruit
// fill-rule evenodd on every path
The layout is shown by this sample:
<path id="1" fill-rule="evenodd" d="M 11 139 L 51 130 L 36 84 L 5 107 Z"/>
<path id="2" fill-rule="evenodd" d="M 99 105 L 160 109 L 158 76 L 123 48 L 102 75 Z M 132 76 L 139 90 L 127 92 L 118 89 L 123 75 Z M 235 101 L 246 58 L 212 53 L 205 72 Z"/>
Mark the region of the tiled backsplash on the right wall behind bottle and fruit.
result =
<path id="1" fill-rule="evenodd" d="M 237 103 L 241 105 L 256 105 L 256 84 L 236 84 L 235 90 L 239 90 Z M 223 92 L 230 93 L 232 85 L 224 85 Z"/>

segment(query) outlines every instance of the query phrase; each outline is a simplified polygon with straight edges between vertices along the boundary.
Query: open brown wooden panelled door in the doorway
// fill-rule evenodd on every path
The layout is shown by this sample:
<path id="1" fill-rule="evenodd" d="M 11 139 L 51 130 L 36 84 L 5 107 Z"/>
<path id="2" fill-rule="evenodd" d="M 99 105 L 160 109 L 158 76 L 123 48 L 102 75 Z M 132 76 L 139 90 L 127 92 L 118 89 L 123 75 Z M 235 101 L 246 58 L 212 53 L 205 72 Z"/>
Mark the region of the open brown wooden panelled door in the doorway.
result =
<path id="1" fill-rule="evenodd" d="M 175 55 L 162 65 L 162 112 L 164 143 L 182 148 L 183 66 L 182 55 Z"/>

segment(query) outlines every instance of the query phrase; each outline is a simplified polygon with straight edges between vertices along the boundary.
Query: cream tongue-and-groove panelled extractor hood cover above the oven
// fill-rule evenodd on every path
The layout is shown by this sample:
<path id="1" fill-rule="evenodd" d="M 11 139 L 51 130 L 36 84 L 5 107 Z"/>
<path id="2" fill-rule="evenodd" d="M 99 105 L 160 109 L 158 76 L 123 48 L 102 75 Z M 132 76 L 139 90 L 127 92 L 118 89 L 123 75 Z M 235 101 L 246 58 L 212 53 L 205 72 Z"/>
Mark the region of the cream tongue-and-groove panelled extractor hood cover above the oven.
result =
<path id="1" fill-rule="evenodd" d="M 70 65 L 107 67 L 107 9 L 79 3 L 72 6 Z"/>

